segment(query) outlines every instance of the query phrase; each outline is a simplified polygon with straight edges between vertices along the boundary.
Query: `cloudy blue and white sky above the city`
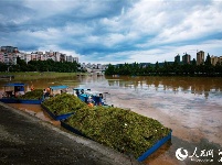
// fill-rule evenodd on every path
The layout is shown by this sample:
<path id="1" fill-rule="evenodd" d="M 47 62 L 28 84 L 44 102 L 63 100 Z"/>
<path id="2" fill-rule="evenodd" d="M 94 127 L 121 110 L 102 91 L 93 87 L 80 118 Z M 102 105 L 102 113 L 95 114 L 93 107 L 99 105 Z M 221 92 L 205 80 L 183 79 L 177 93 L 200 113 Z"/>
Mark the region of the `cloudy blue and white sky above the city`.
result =
<path id="1" fill-rule="evenodd" d="M 0 0 L 0 46 L 94 64 L 222 56 L 222 0 Z"/>

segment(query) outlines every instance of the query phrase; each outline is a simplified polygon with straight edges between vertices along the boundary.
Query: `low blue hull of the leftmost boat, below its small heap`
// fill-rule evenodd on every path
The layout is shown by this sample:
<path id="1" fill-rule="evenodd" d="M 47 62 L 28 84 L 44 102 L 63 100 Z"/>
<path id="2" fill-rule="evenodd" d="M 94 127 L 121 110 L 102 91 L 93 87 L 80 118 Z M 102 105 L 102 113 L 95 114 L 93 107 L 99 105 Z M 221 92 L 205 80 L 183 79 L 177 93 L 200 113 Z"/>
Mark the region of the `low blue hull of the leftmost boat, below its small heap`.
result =
<path id="1" fill-rule="evenodd" d="M 27 105 L 41 105 L 43 101 L 42 99 L 40 100 L 24 100 L 24 99 L 14 99 L 14 98 L 2 98 L 0 99 L 1 102 L 4 103 L 27 103 Z"/>

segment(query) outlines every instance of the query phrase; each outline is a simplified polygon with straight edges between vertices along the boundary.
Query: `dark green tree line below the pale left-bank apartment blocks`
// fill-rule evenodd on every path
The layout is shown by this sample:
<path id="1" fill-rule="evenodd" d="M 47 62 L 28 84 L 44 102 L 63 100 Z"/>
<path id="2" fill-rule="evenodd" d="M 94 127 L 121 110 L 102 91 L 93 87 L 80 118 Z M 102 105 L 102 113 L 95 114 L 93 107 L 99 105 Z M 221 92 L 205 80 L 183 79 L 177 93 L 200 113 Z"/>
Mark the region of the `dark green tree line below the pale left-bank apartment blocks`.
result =
<path id="1" fill-rule="evenodd" d="M 76 62 L 30 61 L 28 64 L 17 57 L 17 65 L 0 63 L 0 72 L 57 72 L 75 73 L 80 65 Z"/>

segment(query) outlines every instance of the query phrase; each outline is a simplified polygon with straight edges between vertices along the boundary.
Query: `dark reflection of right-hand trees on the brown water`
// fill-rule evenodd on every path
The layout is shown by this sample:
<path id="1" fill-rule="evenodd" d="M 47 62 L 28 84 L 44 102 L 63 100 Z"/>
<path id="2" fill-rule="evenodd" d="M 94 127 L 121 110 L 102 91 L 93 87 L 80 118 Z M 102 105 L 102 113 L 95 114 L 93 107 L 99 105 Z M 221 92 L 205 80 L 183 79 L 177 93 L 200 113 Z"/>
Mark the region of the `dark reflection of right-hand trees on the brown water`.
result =
<path id="1" fill-rule="evenodd" d="M 107 77 L 108 85 L 123 88 L 155 89 L 168 92 L 191 92 L 194 95 L 216 95 L 222 90 L 221 78 L 205 77 L 119 77 L 119 79 Z"/>

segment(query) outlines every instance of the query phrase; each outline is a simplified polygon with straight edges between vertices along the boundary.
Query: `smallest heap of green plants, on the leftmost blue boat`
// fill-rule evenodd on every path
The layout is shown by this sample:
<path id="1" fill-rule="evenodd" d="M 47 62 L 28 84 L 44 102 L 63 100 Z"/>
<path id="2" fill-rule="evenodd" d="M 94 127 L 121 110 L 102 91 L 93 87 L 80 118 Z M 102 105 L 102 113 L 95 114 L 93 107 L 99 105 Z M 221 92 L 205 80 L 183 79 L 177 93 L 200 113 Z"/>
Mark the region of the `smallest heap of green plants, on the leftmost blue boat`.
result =
<path id="1" fill-rule="evenodd" d="M 22 96 L 19 96 L 19 99 L 33 99 L 33 100 L 39 100 L 42 99 L 43 97 L 43 89 L 34 89 L 32 91 L 28 91 Z"/>

